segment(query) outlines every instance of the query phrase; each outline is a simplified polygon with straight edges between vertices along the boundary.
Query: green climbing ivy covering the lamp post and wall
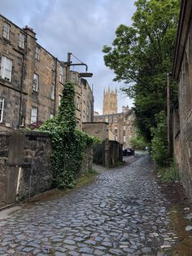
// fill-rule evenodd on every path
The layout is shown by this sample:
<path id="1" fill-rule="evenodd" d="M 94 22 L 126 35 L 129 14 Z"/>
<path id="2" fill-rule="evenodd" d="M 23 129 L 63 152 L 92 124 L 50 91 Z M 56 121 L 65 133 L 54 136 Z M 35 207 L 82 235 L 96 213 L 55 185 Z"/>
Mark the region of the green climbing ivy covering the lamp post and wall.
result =
<path id="1" fill-rule="evenodd" d="M 50 118 L 40 130 L 52 139 L 52 166 L 55 188 L 72 188 L 80 176 L 85 148 L 97 139 L 76 129 L 75 90 L 72 83 L 63 86 L 63 97 L 57 117 Z"/>

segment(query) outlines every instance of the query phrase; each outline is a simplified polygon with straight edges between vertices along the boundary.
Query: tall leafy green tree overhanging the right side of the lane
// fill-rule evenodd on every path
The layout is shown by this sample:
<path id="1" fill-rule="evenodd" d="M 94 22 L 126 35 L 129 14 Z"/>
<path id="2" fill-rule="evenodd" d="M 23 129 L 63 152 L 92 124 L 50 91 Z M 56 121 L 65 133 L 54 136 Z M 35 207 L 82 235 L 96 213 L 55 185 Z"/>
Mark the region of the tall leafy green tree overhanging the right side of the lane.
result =
<path id="1" fill-rule="evenodd" d="M 111 46 L 103 47 L 105 64 L 134 99 L 137 127 L 149 142 L 154 136 L 151 128 L 158 126 L 156 115 L 166 110 L 166 73 L 172 71 L 179 2 L 137 0 L 133 25 L 120 24 Z M 174 104 L 177 87 L 172 78 L 170 84 Z"/>

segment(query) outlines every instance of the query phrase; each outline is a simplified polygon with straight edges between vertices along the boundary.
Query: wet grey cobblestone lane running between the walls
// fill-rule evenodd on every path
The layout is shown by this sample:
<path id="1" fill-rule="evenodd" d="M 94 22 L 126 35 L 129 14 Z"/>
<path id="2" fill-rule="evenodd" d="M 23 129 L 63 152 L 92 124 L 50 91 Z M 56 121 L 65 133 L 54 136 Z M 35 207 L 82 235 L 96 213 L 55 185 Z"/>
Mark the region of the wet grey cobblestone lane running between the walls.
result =
<path id="1" fill-rule="evenodd" d="M 25 205 L 0 221 L 1 255 L 169 255 L 167 201 L 149 157 L 105 170 L 94 183 Z"/>

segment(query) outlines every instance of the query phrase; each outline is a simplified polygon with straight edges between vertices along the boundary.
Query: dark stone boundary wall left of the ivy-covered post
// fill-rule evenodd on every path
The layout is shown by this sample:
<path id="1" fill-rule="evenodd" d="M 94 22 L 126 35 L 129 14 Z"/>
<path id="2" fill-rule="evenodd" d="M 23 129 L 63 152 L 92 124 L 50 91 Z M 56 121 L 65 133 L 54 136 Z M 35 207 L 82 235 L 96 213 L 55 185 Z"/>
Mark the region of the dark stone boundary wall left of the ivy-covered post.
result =
<path id="1" fill-rule="evenodd" d="M 52 188 L 49 135 L 2 132 L 0 148 L 0 201 L 13 203 Z"/>

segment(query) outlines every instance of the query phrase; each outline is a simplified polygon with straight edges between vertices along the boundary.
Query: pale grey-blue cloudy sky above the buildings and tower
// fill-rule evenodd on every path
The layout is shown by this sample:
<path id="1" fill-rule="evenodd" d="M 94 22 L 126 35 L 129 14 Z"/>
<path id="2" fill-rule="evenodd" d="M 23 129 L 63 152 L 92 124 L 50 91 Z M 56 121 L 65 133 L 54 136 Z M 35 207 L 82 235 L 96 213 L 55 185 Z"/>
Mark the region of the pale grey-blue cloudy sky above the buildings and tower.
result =
<path id="1" fill-rule="evenodd" d="M 102 114 L 103 90 L 117 88 L 118 108 L 132 106 L 132 100 L 120 93 L 113 82 L 114 73 L 104 65 L 103 46 L 115 39 L 120 24 L 131 24 L 134 0 L 0 0 L 1 14 L 21 28 L 37 33 L 37 42 L 59 60 L 68 52 L 88 65 L 89 85 L 94 85 L 94 110 Z M 72 59 L 76 63 L 75 59 Z M 72 68 L 73 69 L 73 68 Z M 76 68 L 74 68 L 76 70 Z M 84 66 L 79 71 L 84 72 Z"/>

